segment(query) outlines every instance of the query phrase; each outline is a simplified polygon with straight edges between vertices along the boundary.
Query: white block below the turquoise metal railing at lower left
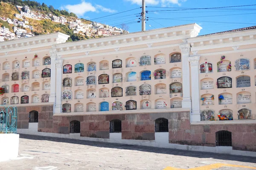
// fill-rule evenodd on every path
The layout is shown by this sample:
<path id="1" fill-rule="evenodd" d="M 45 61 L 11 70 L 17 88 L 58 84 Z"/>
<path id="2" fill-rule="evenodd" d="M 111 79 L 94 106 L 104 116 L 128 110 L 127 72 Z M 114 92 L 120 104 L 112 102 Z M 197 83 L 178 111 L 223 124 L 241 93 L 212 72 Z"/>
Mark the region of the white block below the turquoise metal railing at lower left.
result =
<path id="1" fill-rule="evenodd" d="M 16 158 L 19 153 L 18 134 L 0 134 L 0 161 Z"/>

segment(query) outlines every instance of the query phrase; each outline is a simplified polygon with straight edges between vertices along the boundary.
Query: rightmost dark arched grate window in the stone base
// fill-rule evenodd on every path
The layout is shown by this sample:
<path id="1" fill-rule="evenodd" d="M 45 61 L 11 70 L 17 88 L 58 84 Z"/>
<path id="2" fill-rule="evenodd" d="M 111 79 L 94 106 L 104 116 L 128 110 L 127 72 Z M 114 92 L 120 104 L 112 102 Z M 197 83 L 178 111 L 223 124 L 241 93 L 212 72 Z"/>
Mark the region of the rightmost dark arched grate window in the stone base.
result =
<path id="1" fill-rule="evenodd" d="M 232 146 L 232 133 L 226 130 L 216 132 L 217 146 Z"/>

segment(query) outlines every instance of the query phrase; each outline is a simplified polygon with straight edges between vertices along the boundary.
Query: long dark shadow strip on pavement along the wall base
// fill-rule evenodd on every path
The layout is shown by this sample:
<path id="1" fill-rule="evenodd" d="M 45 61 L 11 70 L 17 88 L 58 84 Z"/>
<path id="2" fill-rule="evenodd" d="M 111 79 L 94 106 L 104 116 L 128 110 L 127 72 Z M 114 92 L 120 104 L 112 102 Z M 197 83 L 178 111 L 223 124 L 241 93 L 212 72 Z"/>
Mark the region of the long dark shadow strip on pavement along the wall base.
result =
<path id="1" fill-rule="evenodd" d="M 176 155 L 176 156 L 214 158 L 214 159 L 220 159 L 220 160 L 256 163 L 256 158 L 249 157 L 249 156 L 236 156 L 236 155 L 228 155 L 228 154 L 220 154 L 220 153 L 207 153 L 207 152 L 177 150 L 177 149 L 159 148 L 159 147 L 147 147 L 147 146 L 129 145 L 129 144 L 106 143 L 106 142 L 98 142 L 98 141 L 84 141 L 84 140 L 78 140 L 78 139 L 55 138 L 55 137 L 38 136 L 38 135 L 20 134 L 20 138 L 31 139 L 31 140 L 64 142 L 64 143 L 70 143 L 70 144 L 82 144 L 82 145 L 93 146 L 93 147 L 138 150 L 143 152 L 170 154 L 170 155 Z"/>

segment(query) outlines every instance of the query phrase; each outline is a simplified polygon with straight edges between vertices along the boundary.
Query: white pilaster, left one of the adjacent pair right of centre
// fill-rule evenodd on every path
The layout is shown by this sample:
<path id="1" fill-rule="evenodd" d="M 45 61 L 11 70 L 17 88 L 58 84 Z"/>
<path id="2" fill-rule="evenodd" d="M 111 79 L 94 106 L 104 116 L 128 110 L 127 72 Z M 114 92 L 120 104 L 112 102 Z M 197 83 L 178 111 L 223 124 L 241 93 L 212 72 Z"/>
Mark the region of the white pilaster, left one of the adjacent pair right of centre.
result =
<path id="1" fill-rule="evenodd" d="M 190 75 L 189 75 L 189 52 L 190 45 L 188 43 L 180 44 L 181 56 L 182 56 L 182 91 L 183 100 L 182 108 L 191 109 L 191 98 L 190 98 Z"/>

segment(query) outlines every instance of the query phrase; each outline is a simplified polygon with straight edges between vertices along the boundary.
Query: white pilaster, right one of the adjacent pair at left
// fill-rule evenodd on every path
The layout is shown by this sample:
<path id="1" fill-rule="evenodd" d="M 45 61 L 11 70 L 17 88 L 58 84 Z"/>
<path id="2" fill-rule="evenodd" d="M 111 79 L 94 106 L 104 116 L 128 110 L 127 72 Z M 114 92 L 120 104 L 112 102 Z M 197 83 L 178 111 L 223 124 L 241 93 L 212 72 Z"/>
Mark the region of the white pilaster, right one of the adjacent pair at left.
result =
<path id="1" fill-rule="evenodd" d="M 62 64 L 63 60 L 55 60 L 56 66 L 56 102 L 55 113 L 61 112 L 61 81 L 62 81 Z"/>

